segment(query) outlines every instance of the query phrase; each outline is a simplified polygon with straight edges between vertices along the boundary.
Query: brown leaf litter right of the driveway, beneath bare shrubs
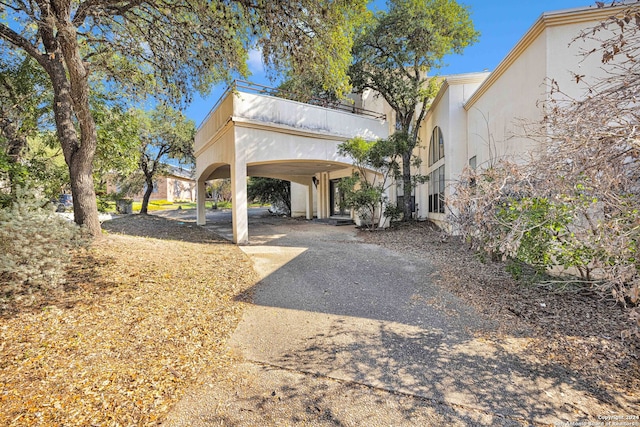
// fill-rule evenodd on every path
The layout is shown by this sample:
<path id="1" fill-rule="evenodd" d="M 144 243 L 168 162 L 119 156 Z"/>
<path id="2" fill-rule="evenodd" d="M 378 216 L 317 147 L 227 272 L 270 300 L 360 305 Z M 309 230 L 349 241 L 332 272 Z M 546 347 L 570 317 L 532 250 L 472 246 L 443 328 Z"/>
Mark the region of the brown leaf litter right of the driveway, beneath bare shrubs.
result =
<path id="1" fill-rule="evenodd" d="M 640 402 L 640 342 L 621 338 L 628 313 L 612 298 L 518 282 L 504 264 L 481 262 L 467 245 L 429 222 L 359 236 L 428 260 L 434 282 L 494 320 L 499 335 L 522 338 L 521 351 L 575 372 L 602 401 L 613 403 L 606 390 L 616 390 Z"/>

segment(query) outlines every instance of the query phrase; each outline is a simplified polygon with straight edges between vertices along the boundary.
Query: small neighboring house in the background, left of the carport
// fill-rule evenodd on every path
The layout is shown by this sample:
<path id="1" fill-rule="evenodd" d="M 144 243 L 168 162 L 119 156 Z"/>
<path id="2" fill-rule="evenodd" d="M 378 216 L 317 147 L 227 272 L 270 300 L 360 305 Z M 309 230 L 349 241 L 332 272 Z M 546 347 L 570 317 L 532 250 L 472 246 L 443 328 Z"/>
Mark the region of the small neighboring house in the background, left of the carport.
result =
<path id="1" fill-rule="evenodd" d="M 113 183 L 107 183 L 107 193 L 115 193 L 118 188 Z M 141 201 L 144 190 L 135 194 L 132 198 Z M 193 179 L 193 171 L 181 167 L 169 166 L 168 172 L 159 175 L 153 185 L 153 192 L 149 200 L 189 201 L 196 200 L 196 181 Z"/>

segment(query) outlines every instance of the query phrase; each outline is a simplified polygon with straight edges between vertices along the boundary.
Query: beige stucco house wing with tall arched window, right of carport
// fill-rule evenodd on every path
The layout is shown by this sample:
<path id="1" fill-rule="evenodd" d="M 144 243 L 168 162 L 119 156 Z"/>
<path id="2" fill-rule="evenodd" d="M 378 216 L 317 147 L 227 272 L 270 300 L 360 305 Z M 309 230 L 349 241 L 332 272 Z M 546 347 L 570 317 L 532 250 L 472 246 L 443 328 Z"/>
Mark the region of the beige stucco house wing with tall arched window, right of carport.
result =
<path id="1" fill-rule="evenodd" d="M 579 99 L 586 87 L 575 74 L 589 78 L 603 75 L 597 55 L 581 55 L 595 45 L 572 41 L 611 14 L 610 8 L 595 7 L 545 13 L 493 72 L 444 78 L 421 128 L 426 149 L 419 154 L 423 174 L 433 177 L 444 166 L 445 202 L 466 166 L 488 167 L 500 158 L 523 162 L 535 156 L 539 140 L 531 129 L 545 114 L 551 81 Z M 445 155 L 430 165 L 430 136 L 436 126 L 442 130 Z M 422 207 L 418 216 L 447 227 L 448 209 L 429 212 L 433 184 L 432 179 L 416 190 L 416 203 Z"/>

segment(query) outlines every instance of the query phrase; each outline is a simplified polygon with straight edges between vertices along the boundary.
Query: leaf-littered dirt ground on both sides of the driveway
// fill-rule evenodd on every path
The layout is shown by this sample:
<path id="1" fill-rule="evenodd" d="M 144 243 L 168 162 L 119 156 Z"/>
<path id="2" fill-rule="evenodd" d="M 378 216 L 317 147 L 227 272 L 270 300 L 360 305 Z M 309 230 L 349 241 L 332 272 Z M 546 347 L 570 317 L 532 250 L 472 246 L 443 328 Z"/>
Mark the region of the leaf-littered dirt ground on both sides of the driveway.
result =
<path id="1" fill-rule="evenodd" d="M 1 313 L 0 425 L 157 425 L 239 363 L 226 342 L 257 281 L 246 255 L 187 221 L 131 215 L 104 229 L 64 292 Z M 628 319 L 610 298 L 518 283 L 424 223 L 359 238 L 428 257 L 498 334 L 521 331 L 537 359 L 640 401 L 640 347 L 621 340 Z"/>

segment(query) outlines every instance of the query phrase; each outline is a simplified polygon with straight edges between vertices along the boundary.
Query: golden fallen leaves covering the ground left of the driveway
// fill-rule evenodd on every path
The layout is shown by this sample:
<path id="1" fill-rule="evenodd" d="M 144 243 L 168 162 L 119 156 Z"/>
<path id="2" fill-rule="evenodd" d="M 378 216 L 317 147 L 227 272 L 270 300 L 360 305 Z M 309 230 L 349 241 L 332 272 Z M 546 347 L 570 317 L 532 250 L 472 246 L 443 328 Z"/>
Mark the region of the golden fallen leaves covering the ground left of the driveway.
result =
<path id="1" fill-rule="evenodd" d="M 106 227 L 124 234 L 78 254 L 64 293 L 0 318 L 0 425 L 155 425 L 232 363 L 249 259 L 192 224 L 134 215 Z"/>

